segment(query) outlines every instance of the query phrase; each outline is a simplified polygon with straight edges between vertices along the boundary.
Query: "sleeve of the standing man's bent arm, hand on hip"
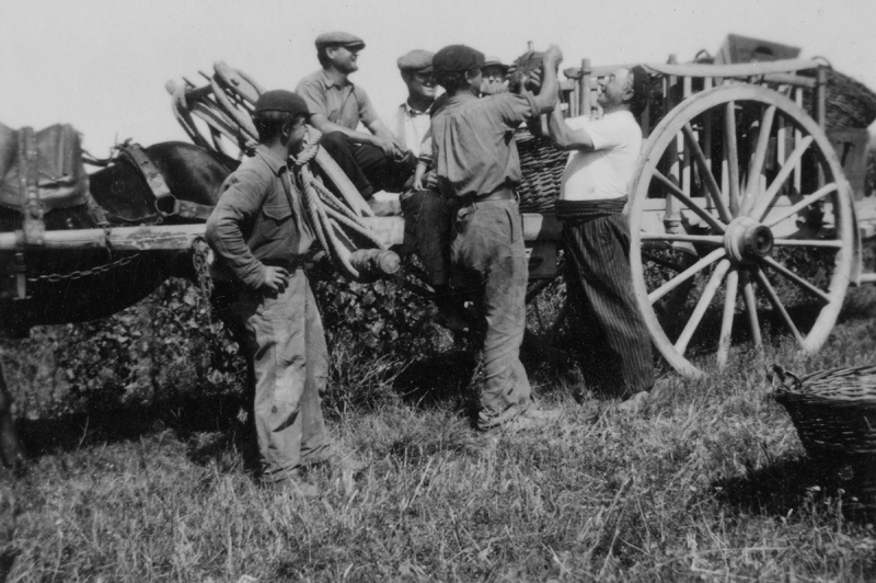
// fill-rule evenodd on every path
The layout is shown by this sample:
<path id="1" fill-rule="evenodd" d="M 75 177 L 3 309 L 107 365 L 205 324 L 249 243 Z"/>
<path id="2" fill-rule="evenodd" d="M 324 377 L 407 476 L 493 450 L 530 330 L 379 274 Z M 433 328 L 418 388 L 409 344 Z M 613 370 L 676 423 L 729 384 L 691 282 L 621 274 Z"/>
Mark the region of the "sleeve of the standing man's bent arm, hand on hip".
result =
<path id="1" fill-rule="evenodd" d="M 235 172 L 222 184 L 222 194 L 207 219 L 207 243 L 222 264 L 245 285 L 260 288 L 265 266 L 246 244 L 244 231 L 255 224 L 268 184 L 256 172 Z"/>

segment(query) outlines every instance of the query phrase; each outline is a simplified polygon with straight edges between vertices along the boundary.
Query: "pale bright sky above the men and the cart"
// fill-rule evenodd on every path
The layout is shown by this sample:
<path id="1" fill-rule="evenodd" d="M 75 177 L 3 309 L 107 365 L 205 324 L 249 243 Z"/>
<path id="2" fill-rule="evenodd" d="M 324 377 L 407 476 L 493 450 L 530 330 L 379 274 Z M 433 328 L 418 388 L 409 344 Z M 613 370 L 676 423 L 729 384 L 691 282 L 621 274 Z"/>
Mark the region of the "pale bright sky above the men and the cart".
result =
<path id="1" fill-rule="evenodd" d="M 361 36 L 364 87 L 379 111 L 401 103 L 395 59 L 464 43 L 509 62 L 532 41 L 561 67 L 691 60 L 728 33 L 803 48 L 876 89 L 874 0 L 0 0 L 0 122 L 70 123 L 105 156 L 116 140 L 186 139 L 165 81 L 203 84 L 224 60 L 268 89 L 319 68 L 313 39 Z"/>

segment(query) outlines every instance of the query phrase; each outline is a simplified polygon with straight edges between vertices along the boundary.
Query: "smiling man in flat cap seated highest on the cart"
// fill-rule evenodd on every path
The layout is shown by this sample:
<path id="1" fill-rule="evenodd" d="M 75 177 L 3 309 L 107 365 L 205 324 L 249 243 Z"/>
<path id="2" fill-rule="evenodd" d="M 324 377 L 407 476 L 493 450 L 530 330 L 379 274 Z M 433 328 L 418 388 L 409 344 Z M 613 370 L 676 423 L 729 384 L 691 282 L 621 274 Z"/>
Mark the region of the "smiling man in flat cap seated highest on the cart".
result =
<path id="1" fill-rule="evenodd" d="M 320 142 L 349 176 L 365 198 L 378 191 L 400 192 L 414 173 L 416 157 L 402 148 L 368 99 L 349 81 L 359 69 L 365 42 L 351 34 L 332 32 L 316 37 L 322 69 L 304 77 L 296 92 L 310 108 L 310 124 L 322 132 Z M 359 132 L 359 123 L 368 132 Z"/>

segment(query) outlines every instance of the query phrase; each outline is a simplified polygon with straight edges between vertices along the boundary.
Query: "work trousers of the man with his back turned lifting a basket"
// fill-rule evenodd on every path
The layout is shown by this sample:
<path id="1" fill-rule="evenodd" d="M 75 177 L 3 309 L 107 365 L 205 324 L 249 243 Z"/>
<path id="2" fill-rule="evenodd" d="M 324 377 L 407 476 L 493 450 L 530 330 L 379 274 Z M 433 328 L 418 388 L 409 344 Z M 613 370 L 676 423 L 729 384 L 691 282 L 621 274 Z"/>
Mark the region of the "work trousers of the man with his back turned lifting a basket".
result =
<path id="1" fill-rule="evenodd" d="M 485 201 L 459 209 L 453 224 L 451 261 L 463 285 L 482 290 L 484 388 L 477 426 L 488 430 L 525 412 L 532 402 L 520 363 L 526 330 L 528 264 L 517 202 Z"/>

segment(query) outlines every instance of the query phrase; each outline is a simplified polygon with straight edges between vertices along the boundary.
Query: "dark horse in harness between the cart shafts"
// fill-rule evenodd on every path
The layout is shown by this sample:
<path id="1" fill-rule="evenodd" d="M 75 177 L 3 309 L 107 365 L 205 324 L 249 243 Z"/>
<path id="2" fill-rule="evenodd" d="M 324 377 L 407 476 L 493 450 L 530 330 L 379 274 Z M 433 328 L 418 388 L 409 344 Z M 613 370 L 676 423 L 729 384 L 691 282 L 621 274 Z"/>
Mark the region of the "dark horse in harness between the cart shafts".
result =
<path id="1" fill-rule="evenodd" d="M 129 150 L 123 146 L 120 151 Z M 139 159 L 130 153 L 114 157 L 89 176 L 95 204 L 48 210 L 44 216 L 46 230 L 204 222 L 222 182 L 238 163 L 181 141 L 159 142 L 139 151 L 148 162 L 142 155 Z M 138 162 L 158 171 L 171 196 L 157 198 L 154 183 L 150 185 Z M 200 213 L 184 218 L 168 207 L 174 201 L 189 203 L 189 208 Z M 18 209 L 0 207 L 0 232 L 14 231 L 21 224 Z M 83 322 L 116 313 L 143 299 L 171 276 L 193 276 L 192 263 L 180 261 L 181 255 L 186 252 L 27 248 L 23 255 L 26 297 L 19 299 L 14 290 L 0 288 L 0 332 L 23 338 L 34 325 Z M 9 259 L 0 262 L 7 282 L 14 281 L 15 267 Z M 15 434 L 11 403 L 0 368 L 0 461 L 22 469 L 25 456 Z"/>

